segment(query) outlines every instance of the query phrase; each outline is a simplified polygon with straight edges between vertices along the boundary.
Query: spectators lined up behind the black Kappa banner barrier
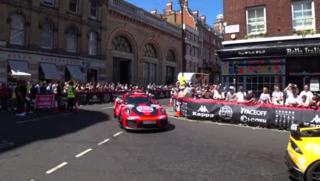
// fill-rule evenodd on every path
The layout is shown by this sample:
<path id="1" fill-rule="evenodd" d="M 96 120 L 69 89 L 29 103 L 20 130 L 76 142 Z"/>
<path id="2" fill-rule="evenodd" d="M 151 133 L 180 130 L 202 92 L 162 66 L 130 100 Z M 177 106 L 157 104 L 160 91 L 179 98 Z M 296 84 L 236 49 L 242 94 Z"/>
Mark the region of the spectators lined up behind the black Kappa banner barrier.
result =
<path id="1" fill-rule="evenodd" d="M 319 108 L 320 98 L 318 93 L 312 93 L 308 84 L 304 85 L 304 90 L 299 93 L 296 84 L 289 84 L 282 92 L 280 85 L 274 87 L 274 92 L 270 94 L 267 87 L 263 88 L 261 95 L 256 95 L 252 90 L 245 92 L 243 86 L 239 86 L 238 91 L 234 86 L 224 90 L 219 84 L 213 85 L 193 85 L 176 86 L 173 93 L 178 98 L 193 99 L 216 99 L 224 101 L 235 101 L 239 103 L 274 104 L 278 106 L 299 106 L 304 108 Z"/>

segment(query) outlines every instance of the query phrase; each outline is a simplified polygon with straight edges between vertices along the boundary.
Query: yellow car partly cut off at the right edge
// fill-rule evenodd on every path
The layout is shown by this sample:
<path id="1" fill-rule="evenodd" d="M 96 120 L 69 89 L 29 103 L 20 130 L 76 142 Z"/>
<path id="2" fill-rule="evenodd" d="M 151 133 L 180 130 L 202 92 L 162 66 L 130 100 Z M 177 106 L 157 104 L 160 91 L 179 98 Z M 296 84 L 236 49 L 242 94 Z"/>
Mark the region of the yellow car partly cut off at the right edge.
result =
<path id="1" fill-rule="evenodd" d="M 286 165 L 295 180 L 320 180 L 320 128 L 291 125 Z"/>

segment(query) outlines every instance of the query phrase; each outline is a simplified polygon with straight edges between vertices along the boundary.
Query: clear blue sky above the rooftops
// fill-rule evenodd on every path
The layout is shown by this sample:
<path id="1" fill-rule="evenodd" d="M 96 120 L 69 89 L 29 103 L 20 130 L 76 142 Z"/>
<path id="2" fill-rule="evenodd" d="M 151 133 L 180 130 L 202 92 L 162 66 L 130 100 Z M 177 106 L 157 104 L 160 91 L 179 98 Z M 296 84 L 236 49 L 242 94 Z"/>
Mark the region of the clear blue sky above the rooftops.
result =
<path id="1" fill-rule="evenodd" d="M 162 13 L 165 10 L 165 4 L 168 1 L 172 1 L 172 10 L 180 10 L 178 0 L 125 0 L 139 8 L 151 12 L 153 9 L 157 9 L 158 13 Z M 219 13 L 224 12 L 223 0 L 189 0 L 188 6 L 191 10 L 198 10 L 199 16 L 206 16 L 206 23 L 213 26 L 215 19 Z"/>

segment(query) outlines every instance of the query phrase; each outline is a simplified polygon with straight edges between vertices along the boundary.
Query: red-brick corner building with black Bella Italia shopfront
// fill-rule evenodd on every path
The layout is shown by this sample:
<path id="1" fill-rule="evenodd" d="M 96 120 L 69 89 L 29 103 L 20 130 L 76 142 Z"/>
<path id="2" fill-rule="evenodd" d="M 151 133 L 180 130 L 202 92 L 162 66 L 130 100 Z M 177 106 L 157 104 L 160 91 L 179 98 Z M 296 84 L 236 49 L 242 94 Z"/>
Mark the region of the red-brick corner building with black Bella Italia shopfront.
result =
<path id="1" fill-rule="evenodd" d="M 319 0 L 224 0 L 222 82 L 258 95 L 275 84 L 319 90 L 319 12 Z"/>

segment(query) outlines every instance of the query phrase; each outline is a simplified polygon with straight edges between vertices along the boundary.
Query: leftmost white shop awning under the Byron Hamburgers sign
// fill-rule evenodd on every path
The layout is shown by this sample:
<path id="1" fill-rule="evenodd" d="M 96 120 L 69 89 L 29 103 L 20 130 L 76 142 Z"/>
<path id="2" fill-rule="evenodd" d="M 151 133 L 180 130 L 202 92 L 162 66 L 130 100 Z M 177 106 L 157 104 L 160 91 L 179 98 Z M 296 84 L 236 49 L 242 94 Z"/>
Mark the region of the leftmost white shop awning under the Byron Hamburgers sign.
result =
<path id="1" fill-rule="evenodd" d="M 13 77 L 21 77 L 21 78 L 31 77 L 27 62 L 9 60 L 9 64 L 10 64 L 11 73 Z"/>

